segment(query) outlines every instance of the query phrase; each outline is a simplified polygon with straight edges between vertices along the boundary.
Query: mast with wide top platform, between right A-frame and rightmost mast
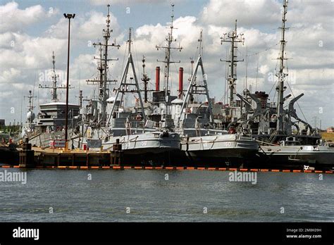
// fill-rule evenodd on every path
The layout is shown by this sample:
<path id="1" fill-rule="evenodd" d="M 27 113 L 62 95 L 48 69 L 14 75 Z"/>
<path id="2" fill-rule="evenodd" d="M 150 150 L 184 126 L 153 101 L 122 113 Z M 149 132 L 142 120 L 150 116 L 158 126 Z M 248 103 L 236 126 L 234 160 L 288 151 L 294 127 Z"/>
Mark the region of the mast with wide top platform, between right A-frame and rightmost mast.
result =
<path id="1" fill-rule="evenodd" d="M 227 35 L 227 37 L 226 37 Z M 244 34 L 237 34 L 237 20 L 235 20 L 235 30 L 230 33 L 224 33 L 221 37 L 221 44 L 223 42 L 230 42 L 230 61 L 225 61 L 230 63 L 230 75 L 228 76 L 228 86 L 230 88 L 230 106 L 235 106 L 235 96 L 237 87 L 237 62 L 244 61 L 243 59 L 237 60 L 237 43 L 241 42 L 244 44 L 245 38 Z M 222 61 L 222 60 L 221 60 Z"/>

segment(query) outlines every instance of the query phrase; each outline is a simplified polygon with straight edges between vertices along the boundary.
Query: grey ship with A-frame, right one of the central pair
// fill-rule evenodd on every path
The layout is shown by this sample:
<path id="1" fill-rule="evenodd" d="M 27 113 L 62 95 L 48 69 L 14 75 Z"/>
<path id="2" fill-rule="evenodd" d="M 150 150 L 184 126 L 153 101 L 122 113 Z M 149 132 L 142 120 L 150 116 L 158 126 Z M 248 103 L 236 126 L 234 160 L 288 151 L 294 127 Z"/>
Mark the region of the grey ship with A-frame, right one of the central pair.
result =
<path id="1" fill-rule="evenodd" d="M 182 134 L 181 147 L 192 164 L 240 167 L 259 151 L 259 143 L 252 136 L 221 129 L 212 113 L 214 99 L 209 97 L 207 77 L 202 61 L 202 30 L 199 37 L 199 56 L 192 73 L 185 99 L 179 93 L 173 101 L 178 132 Z M 197 74 L 202 72 L 202 75 Z M 182 72 L 182 70 L 180 70 Z M 180 77 L 182 77 L 180 75 Z M 182 84 L 182 81 L 179 81 Z M 180 85 L 182 87 L 182 85 Z M 181 89 L 180 89 L 181 90 Z M 195 97 L 204 96 L 205 102 Z M 179 105 L 179 106 L 178 106 Z"/>

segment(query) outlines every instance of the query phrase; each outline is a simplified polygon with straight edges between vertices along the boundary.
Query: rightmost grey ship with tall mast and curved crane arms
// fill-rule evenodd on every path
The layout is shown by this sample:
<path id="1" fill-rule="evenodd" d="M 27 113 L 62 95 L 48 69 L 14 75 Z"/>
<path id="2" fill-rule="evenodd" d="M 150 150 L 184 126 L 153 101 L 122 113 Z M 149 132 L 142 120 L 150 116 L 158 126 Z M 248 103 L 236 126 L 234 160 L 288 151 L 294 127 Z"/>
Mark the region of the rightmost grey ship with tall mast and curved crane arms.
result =
<path id="1" fill-rule="evenodd" d="M 296 113 L 294 108 L 295 102 L 300 99 L 304 94 L 295 96 L 294 99 L 288 103 L 285 108 L 285 101 L 291 96 L 288 94 L 284 96 L 285 91 L 285 22 L 287 14 L 287 0 L 283 2 L 283 16 L 281 27 L 281 39 L 280 39 L 280 70 L 276 75 L 278 77 L 278 86 L 276 90 L 278 92 L 278 101 L 276 107 L 276 115 L 269 114 L 273 121 L 276 121 L 276 130 L 273 130 L 272 134 L 266 138 L 266 142 L 269 144 L 263 144 L 261 151 L 266 156 L 267 161 L 270 161 L 272 165 L 285 163 L 293 167 L 304 168 L 318 168 L 318 169 L 333 169 L 334 165 L 334 147 L 333 145 L 326 144 L 321 139 L 317 129 L 314 129 L 308 122 L 302 120 Z M 293 94 L 293 92 L 292 92 Z M 275 111 L 274 111 L 275 112 Z M 260 114 L 264 117 L 264 113 Z M 292 120 L 294 119 L 294 120 Z M 304 124 L 305 130 L 299 129 L 299 123 Z M 292 131 L 292 126 L 297 130 Z M 263 140 L 263 139 L 261 139 Z M 271 143 L 271 144 L 270 144 Z M 273 145 L 278 144 L 278 145 Z"/>

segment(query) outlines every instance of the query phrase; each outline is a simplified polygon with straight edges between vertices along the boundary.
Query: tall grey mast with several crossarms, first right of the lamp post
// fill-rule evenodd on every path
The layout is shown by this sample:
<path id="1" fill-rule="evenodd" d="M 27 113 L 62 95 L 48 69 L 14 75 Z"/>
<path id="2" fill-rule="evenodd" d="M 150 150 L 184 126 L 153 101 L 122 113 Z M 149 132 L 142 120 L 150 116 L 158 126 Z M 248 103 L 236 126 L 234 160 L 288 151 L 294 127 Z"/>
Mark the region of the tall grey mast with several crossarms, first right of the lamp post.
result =
<path id="1" fill-rule="evenodd" d="M 106 29 L 103 30 L 103 37 L 104 37 L 104 43 L 94 43 L 93 46 L 97 47 L 99 46 L 99 57 L 95 57 L 94 59 L 99 60 L 99 65 L 97 67 L 97 70 L 99 70 L 99 79 L 97 80 L 87 80 L 87 84 L 99 84 L 99 102 L 101 103 L 101 117 L 99 118 L 98 124 L 106 122 L 106 100 L 109 98 L 109 89 L 107 88 L 108 84 L 111 84 L 112 82 L 117 82 L 117 80 L 109 80 L 108 79 L 108 62 L 109 61 L 118 61 L 118 58 L 108 58 L 108 48 L 109 46 L 116 47 L 119 49 L 120 45 L 116 44 L 116 39 L 114 42 L 109 44 L 109 39 L 111 37 L 111 32 L 113 30 L 110 29 L 110 5 L 107 5 L 107 15 L 106 15 Z M 104 51 L 104 54 L 102 54 L 102 51 Z"/>

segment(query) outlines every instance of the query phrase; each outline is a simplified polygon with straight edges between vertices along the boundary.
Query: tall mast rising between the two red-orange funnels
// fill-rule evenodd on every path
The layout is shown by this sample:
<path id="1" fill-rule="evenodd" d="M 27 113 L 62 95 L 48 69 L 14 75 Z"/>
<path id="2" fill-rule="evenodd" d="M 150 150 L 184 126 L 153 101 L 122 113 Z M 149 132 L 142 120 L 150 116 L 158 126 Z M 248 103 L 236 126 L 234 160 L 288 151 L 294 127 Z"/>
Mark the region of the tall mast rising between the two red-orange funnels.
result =
<path id="1" fill-rule="evenodd" d="M 170 94 L 170 90 L 168 89 L 168 82 L 169 82 L 169 71 L 170 71 L 170 65 L 171 63 L 180 63 L 180 61 L 171 61 L 171 50 L 172 49 L 176 49 L 178 51 L 181 51 L 183 49 L 183 47 L 181 47 L 180 45 L 178 47 L 172 47 L 172 43 L 176 42 L 176 39 L 173 38 L 173 21 L 174 21 L 174 4 L 171 5 L 172 6 L 172 15 L 171 15 L 171 26 L 169 27 L 171 29 L 171 31 L 168 33 L 168 36 L 166 37 L 166 46 L 158 46 L 156 45 L 156 49 L 165 49 L 165 59 L 164 61 L 159 61 L 158 62 L 162 62 L 165 63 L 165 68 L 163 70 L 163 89 L 165 90 L 165 95 L 168 96 Z M 166 104 L 166 114 L 167 113 L 167 104 Z"/>

